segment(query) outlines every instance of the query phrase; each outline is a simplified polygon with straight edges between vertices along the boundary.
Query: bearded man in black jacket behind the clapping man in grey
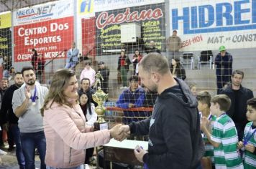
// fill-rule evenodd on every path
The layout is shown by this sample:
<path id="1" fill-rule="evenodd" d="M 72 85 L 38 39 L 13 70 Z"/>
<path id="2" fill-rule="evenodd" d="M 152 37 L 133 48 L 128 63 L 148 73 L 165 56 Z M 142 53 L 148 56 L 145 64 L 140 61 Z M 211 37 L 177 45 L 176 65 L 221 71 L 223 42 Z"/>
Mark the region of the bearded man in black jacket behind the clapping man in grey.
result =
<path id="1" fill-rule="evenodd" d="M 24 155 L 22 153 L 22 143 L 20 141 L 20 132 L 18 127 L 18 120 L 19 118 L 14 115 L 14 112 L 12 110 L 12 96 L 14 94 L 14 91 L 19 89 L 19 87 L 22 86 L 24 83 L 24 79 L 22 77 L 21 72 L 16 72 L 14 75 L 14 82 L 15 84 L 12 84 L 6 92 L 4 93 L 3 102 L 1 105 L 1 125 L 4 126 L 4 129 L 7 131 L 8 139 L 12 137 L 14 139 L 14 143 L 16 145 L 16 157 L 19 163 L 19 168 L 23 169 L 25 168 L 25 160 Z M 11 150 L 10 145 L 12 143 L 9 143 L 9 149 Z"/>

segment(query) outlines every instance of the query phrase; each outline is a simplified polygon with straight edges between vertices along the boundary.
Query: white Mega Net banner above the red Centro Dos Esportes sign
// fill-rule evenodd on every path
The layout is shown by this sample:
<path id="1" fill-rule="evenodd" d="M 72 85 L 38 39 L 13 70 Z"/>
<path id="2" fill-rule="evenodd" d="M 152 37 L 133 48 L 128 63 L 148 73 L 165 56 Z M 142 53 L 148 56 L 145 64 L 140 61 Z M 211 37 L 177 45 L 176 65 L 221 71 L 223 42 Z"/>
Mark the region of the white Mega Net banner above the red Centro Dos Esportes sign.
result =
<path id="1" fill-rule="evenodd" d="M 13 12 L 14 26 L 73 16 L 73 0 L 55 1 Z"/>

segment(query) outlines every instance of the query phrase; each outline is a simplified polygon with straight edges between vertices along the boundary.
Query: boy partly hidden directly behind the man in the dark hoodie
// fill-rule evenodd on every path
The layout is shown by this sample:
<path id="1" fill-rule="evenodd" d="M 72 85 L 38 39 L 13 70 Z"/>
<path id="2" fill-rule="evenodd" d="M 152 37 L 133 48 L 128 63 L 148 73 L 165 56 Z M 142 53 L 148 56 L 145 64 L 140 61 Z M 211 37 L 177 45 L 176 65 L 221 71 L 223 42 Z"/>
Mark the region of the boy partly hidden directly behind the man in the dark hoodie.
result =
<path id="1" fill-rule="evenodd" d="M 196 95 L 196 99 L 198 101 L 198 111 L 200 117 L 206 117 L 209 120 L 209 131 L 212 131 L 212 127 L 214 125 L 214 121 L 216 120 L 216 116 L 211 115 L 210 107 L 211 107 L 211 95 L 207 91 L 198 92 Z M 206 153 L 204 157 L 201 159 L 201 164 L 204 169 L 211 169 L 214 167 L 214 146 L 211 145 L 206 135 L 202 132 L 202 137 L 204 140 L 204 148 Z"/>

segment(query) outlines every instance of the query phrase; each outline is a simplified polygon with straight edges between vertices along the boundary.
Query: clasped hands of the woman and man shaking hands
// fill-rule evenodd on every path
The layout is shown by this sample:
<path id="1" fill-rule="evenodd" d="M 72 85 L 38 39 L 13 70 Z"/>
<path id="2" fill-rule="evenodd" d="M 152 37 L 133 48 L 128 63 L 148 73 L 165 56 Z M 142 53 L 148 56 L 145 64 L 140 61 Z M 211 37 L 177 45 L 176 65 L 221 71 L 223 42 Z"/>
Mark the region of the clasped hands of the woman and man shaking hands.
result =
<path id="1" fill-rule="evenodd" d="M 109 131 L 111 137 L 119 141 L 126 139 L 130 135 L 129 125 L 115 125 Z"/>

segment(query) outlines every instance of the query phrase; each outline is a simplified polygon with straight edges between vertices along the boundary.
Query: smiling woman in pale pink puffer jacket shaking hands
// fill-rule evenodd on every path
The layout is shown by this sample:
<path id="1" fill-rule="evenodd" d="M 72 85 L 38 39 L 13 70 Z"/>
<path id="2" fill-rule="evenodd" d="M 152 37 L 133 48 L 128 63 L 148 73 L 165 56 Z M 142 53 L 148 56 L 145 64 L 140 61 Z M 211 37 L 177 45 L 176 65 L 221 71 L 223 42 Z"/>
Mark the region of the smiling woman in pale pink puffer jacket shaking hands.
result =
<path id="1" fill-rule="evenodd" d="M 118 135 L 119 125 L 111 130 L 92 132 L 78 104 L 78 82 L 71 69 L 53 74 L 52 84 L 42 107 L 46 137 L 47 168 L 83 168 L 86 148 L 109 143 Z"/>

